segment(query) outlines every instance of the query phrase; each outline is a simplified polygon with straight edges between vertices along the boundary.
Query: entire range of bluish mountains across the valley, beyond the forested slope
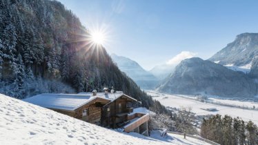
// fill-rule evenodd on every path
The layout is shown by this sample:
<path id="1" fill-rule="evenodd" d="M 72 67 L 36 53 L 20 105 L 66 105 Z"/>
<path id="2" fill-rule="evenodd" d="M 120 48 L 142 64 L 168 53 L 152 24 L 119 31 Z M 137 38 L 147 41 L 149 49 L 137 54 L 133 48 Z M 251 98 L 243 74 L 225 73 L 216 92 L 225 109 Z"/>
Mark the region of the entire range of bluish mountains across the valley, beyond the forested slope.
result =
<path id="1" fill-rule="evenodd" d="M 111 55 L 112 60 L 141 88 L 161 93 L 254 97 L 258 94 L 258 33 L 237 35 L 208 60 L 189 58 L 175 65 L 155 66 L 149 72 L 136 61 Z"/>

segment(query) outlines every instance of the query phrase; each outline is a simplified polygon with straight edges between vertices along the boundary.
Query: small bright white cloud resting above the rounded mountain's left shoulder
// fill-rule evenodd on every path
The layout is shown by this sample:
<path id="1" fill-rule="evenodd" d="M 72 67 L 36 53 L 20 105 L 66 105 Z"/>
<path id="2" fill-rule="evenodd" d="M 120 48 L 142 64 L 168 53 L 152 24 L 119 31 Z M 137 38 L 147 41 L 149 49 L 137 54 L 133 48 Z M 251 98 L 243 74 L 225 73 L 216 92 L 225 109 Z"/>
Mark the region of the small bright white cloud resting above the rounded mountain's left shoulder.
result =
<path id="1" fill-rule="evenodd" d="M 195 57 L 195 55 L 197 55 L 197 53 L 195 52 L 189 52 L 189 51 L 182 51 L 181 53 L 179 53 L 178 55 L 176 55 L 175 57 L 173 57 L 172 59 L 168 60 L 166 62 L 166 64 L 168 65 L 177 65 L 179 64 L 183 59 L 190 59 L 192 57 Z"/>

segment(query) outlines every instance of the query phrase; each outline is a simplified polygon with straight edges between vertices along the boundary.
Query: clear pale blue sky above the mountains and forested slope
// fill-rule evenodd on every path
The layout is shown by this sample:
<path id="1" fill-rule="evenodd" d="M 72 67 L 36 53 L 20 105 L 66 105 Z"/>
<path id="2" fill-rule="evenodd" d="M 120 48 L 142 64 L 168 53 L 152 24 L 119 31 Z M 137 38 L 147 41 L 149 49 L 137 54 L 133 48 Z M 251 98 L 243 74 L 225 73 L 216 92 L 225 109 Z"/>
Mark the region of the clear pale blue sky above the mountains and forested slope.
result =
<path id="1" fill-rule="evenodd" d="M 236 35 L 258 31 L 255 0 L 60 1 L 86 28 L 106 31 L 110 54 L 129 57 L 146 70 L 187 54 L 208 59 Z"/>

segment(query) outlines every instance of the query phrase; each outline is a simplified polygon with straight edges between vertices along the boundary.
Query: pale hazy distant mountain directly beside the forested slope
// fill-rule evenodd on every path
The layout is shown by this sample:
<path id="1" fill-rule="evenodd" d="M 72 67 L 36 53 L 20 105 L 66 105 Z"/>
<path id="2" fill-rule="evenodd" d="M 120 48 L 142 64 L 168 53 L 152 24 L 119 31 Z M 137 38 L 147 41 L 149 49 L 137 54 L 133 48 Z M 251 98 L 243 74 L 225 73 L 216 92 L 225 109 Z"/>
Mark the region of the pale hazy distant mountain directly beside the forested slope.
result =
<path id="1" fill-rule="evenodd" d="M 132 78 L 141 88 L 152 89 L 157 85 L 157 78 L 144 70 L 136 61 L 115 54 L 112 54 L 111 57 L 118 68 Z"/>

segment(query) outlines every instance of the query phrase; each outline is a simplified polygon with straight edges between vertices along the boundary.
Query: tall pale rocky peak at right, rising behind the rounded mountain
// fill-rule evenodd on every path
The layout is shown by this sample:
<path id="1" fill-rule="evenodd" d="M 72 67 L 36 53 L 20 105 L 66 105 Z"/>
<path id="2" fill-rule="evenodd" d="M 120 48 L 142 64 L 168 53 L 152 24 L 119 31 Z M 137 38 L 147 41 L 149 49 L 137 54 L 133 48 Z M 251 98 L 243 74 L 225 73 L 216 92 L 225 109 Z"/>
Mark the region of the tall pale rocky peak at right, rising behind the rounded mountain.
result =
<path id="1" fill-rule="evenodd" d="M 232 43 L 223 48 L 209 60 L 222 65 L 246 66 L 258 57 L 258 33 L 243 33 L 237 35 Z"/>

